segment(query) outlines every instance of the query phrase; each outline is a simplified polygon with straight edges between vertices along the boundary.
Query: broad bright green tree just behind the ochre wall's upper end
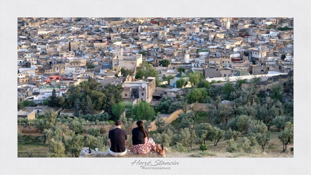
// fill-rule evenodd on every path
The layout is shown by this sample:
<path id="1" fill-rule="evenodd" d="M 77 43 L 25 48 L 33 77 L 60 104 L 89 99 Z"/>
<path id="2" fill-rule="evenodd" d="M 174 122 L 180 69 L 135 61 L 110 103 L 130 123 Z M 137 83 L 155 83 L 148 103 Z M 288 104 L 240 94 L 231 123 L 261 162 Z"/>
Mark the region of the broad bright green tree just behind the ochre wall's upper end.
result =
<path id="1" fill-rule="evenodd" d="M 191 104 L 195 102 L 203 103 L 208 96 L 208 90 L 206 88 L 194 88 L 187 93 L 185 99 Z"/>

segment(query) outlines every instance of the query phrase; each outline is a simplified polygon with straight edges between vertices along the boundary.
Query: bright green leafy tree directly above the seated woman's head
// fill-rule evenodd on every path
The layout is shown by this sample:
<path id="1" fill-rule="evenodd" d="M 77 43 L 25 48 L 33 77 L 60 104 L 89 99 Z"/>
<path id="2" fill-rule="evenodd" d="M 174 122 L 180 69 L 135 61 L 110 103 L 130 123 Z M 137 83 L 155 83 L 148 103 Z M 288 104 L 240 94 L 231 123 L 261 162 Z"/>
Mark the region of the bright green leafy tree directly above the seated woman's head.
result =
<path id="1" fill-rule="evenodd" d="M 145 101 L 140 101 L 135 104 L 132 111 L 132 119 L 137 120 L 149 120 L 155 117 L 154 108 Z"/>

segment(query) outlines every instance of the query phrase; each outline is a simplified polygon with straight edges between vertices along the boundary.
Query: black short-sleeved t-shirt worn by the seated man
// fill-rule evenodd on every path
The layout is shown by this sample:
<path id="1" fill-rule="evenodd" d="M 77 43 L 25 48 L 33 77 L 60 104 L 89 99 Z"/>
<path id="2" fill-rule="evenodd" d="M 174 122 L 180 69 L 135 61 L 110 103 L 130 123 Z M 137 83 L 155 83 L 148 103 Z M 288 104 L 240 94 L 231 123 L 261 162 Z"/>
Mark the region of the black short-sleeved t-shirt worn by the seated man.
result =
<path id="1" fill-rule="evenodd" d="M 125 130 L 115 128 L 109 130 L 108 139 L 110 139 L 110 150 L 115 153 L 123 153 L 125 151 L 125 140 L 128 139 L 128 135 Z"/>

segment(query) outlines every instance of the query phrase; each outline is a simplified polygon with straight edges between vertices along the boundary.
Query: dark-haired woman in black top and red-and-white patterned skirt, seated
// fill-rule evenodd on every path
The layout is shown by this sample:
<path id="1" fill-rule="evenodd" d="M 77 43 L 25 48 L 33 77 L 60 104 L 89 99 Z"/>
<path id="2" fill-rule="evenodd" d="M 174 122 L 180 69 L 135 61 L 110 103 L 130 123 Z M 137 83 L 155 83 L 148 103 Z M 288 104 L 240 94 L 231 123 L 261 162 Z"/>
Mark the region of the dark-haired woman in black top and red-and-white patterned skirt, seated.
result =
<path id="1" fill-rule="evenodd" d="M 156 146 L 152 138 L 147 139 L 148 132 L 144 130 L 143 122 L 137 121 L 137 127 L 132 130 L 131 151 L 137 154 L 149 153 Z"/>

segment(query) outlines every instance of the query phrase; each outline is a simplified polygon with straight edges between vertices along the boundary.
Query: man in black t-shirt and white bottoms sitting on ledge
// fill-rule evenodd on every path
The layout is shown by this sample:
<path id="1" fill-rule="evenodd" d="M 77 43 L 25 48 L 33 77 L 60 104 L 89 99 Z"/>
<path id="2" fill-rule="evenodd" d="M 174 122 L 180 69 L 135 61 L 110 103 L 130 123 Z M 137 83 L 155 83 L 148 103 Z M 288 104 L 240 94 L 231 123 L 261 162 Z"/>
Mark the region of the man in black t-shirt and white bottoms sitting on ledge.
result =
<path id="1" fill-rule="evenodd" d="M 122 121 L 117 120 L 115 122 L 115 129 L 109 130 L 109 153 L 113 156 L 123 156 L 128 152 L 128 148 L 125 146 L 128 139 L 128 135 L 125 130 L 121 129 Z"/>

